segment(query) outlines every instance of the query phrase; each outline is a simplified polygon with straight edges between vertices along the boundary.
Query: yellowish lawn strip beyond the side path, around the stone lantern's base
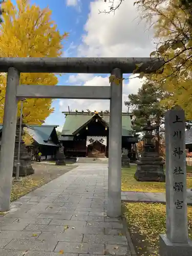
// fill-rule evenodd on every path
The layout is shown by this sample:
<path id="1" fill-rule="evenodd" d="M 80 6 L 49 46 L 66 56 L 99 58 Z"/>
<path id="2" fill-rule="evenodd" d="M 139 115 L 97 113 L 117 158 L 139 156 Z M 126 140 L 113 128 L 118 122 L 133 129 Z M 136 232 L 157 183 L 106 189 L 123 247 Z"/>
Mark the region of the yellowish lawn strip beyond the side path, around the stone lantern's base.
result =
<path id="1" fill-rule="evenodd" d="M 165 182 L 136 181 L 137 165 L 122 169 L 122 191 L 165 192 Z M 187 188 L 192 188 L 192 166 L 187 166 Z"/>

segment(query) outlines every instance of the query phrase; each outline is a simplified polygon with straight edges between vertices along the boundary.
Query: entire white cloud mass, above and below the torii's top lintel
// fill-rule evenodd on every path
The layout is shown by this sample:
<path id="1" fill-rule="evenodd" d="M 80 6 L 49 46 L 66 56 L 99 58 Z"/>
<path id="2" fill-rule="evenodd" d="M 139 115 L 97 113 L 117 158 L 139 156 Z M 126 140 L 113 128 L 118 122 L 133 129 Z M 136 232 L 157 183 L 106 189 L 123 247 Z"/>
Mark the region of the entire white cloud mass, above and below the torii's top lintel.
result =
<path id="1" fill-rule="evenodd" d="M 153 31 L 140 19 L 135 0 L 123 1 L 120 8 L 111 14 L 99 14 L 99 10 L 108 9 L 109 3 L 95 0 L 90 3 L 90 13 L 84 33 L 82 44 L 77 48 L 78 56 L 82 57 L 149 57 L 154 50 Z M 101 77 L 93 74 L 76 74 L 69 77 L 68 82 L 81 86 L 109 86 L 109 75 Z M 132 79 L 134 77 L 134 79 Z M 123 111 L 127 110 L 124 101 L 129 94 L 137 93 L 143 79 L 131 75 L 129 81 L 123 83 Z M 79 88 L 80 89 L 80 88 Z M 109 100 L 61 100 L 60 110 L 70 109 L 91 111 L 109 110 Z"/>

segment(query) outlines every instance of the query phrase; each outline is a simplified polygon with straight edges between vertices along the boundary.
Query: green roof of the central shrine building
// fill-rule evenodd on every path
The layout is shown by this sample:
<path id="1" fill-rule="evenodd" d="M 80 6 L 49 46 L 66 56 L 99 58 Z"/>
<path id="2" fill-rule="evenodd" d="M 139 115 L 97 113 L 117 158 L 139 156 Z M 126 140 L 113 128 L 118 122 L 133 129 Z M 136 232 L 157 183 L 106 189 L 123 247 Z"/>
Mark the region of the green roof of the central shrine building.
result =
<path id="1" fill-rule="evenodd" d="M 63 112 L 66 115 L 66 121 L 63 125 L 61 136 L 73 136 L 75 131 L 79 129 L 84 123 L 87 123 L 95 115 L 94 113 L 89 114 L 88 112 Z M 110 115 L 109 113 L 98 113 L 99 116 L 110 126 Z M 132 132 L 132 114 L 122 113 L 122 136 L 133 136 Z"/>

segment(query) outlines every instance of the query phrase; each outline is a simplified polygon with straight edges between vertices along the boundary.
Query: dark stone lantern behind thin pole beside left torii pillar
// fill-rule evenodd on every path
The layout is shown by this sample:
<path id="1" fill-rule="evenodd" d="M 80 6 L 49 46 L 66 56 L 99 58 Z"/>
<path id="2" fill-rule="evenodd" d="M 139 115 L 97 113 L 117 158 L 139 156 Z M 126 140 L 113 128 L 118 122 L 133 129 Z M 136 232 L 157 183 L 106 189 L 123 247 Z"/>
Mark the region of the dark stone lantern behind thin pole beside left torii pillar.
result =
<path id="1" fill-rule="evenodd" d="M 18 157 L 18 142 L 19 142 L 19 130 L 20 130 L 19 120 L 20 118 L 17 119 L 17 125 L 16 125 L 13 176 L 16 175 L 16 163 L 17 163 L 17 157 Z M 31 165 L 31 155 L 29 155 L 28 150 L 25 146 L 25 142 L 23 140 L 24 127 L 26 127 L 26 124 L 22 123 L 22 131 L 21 131 L 21 139 L 20 139 L 19 176 L 27 176 L 27 175 L 34 174 L 34 169 Z"/>

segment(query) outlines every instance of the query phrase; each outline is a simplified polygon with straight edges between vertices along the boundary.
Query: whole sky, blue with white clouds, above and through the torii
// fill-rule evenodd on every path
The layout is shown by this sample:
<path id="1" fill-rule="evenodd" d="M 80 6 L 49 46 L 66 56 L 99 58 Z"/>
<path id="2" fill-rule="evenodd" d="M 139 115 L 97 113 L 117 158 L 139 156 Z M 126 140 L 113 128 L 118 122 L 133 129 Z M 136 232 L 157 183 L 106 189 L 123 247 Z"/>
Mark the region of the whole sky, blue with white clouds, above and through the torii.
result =
<path id="1" fill-rule="evenodd" d="M 16 0 L 12 0 L 15 4 Z M 109 8 L 103 0 L 31 0 L 31 4 L 41 9 L 49 7 L 52 19 L 60 33 L 68 32 L 69 38 L 63 44 L 63 57 L 148 57 L 153 51 L 152 35 L 140 22 L 134 0 L 124 1 L 115 15 L 99 14 L 99 10 Z M 58 76 L 58 85 L 106 86 L 109 75 L 64 74 Z M 124 75 L 125 78 L 129 75 Z M 134 78 L 132 75 L 130 78 Z M 130 93 L 137 93 L 142 80 L 124 80 L 123 102 Z M 59 125 L 65 122 L 62 111 L 86 109 L 109 110 L 108 100 L 53 100 L 55 108 L 46 124 Z M 124 103 L 123 111 L 126 111 Z"/>

